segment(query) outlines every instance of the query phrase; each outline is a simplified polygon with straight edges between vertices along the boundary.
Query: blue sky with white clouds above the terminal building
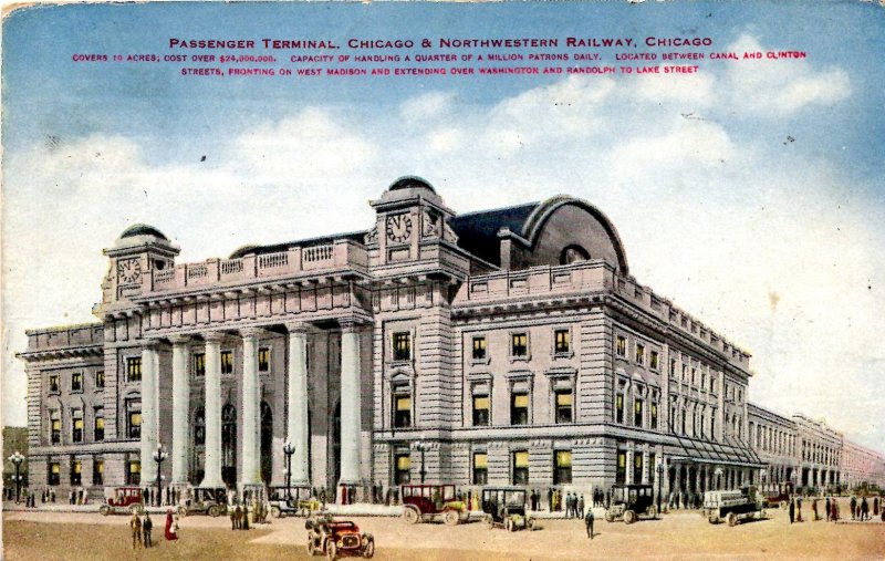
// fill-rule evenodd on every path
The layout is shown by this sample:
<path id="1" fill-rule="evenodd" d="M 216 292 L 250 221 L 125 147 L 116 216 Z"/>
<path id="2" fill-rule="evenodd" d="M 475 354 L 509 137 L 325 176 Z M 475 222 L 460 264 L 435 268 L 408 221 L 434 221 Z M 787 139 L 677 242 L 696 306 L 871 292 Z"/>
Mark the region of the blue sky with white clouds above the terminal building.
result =
<path id="1" fill-rule="evenodd" d="M 4 423 L 24 422 L 12 357 L 23 330 L 92 320 L 101 249 L 127 225 L 153 224 L 183 260 L 202 260 L 367 228 L 366 200 L 417 174 L 457 211 L 559 193 L 591 200 L 617 226 L 639 282 L 753 353 L 751 399 L 824 417 L 885 450 L 875 395 L 885 370 L 883 13 L 853 1 L 13 12 L 3 28 Z M 565 37 L 648 35 L 808 59 L 706 61 L 676 79 L 311 80 L 71 61 L 168 54 L 169 38 L 555 37 L 551 51 L 565 52 Z"/>

